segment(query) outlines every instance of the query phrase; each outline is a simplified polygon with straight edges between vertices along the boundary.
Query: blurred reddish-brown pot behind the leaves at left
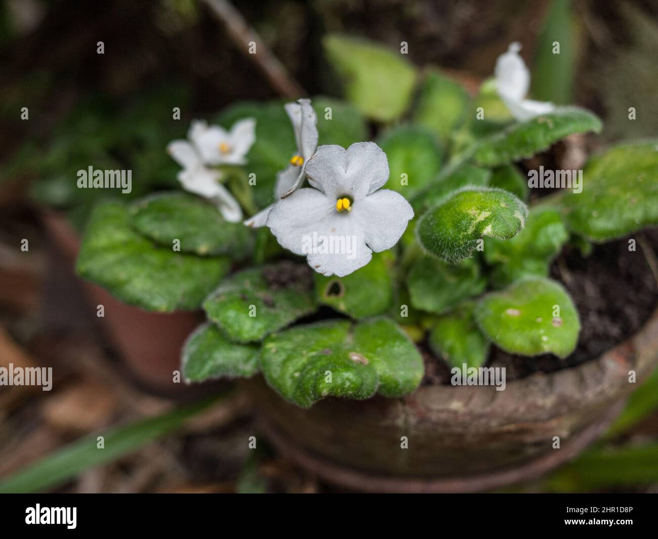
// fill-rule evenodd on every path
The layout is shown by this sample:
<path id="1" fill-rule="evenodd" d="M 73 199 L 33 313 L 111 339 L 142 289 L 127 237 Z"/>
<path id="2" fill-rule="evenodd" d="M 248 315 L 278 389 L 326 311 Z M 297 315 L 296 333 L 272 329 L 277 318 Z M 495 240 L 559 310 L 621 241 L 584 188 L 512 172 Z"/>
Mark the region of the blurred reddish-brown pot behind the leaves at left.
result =
<path id="1" fill-rule="evenodd" d="M 71 271 L 80 250 L 80 237 L 60 213 L 45 211 L 43 223 L 53 242 L 70 263 Z M 93 305 L 104 305 L 107 333 L 139 384 L 159 394 L 196 390 L 172 381 L 180 367 L 180 350 L 190 332 L 202 321 L 199 313 L 149 313 L 130 307 L 103 290 L 78 278 Z M 209 389 L 209 388 L 208 388 Z"/>

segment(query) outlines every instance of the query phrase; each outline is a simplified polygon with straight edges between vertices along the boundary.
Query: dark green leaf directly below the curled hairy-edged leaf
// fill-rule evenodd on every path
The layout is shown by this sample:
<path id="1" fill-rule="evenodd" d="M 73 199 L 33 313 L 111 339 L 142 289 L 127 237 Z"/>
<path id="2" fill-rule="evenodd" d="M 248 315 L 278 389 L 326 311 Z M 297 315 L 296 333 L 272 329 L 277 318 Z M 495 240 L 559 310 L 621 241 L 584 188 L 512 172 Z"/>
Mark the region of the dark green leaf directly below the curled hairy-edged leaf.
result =
<path id="1" fill-rule="evenodd" d="M 436 257 L 424 256 L 414 263 L 407 276 L 411 305 L 437 314 L 450 311 L 468 297 L 482 294 L 486 284 L 474 259 L 450 265 Z"/>

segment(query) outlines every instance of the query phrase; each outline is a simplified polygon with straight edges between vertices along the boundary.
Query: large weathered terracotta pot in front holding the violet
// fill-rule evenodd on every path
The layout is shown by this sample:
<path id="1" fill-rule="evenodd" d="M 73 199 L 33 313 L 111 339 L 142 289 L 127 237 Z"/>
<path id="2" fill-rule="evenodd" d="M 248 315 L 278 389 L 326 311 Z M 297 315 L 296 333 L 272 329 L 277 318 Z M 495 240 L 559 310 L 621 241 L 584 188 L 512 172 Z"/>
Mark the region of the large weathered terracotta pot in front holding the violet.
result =
<path id="1" fill-rule="evenodd" d="M 493 386 L 424 386 L 402 399 L 328 398 L 311 409 L 249 380 L 263 432 L 329 482 L 372 492 L 470 492 L 572 459 L 615 419 L 658 361 L 658 311 L 599 359 Z M 408 449 L 401 449 L 407 436 Z M 559 436 L 560 448 L 553 449 Z"/>

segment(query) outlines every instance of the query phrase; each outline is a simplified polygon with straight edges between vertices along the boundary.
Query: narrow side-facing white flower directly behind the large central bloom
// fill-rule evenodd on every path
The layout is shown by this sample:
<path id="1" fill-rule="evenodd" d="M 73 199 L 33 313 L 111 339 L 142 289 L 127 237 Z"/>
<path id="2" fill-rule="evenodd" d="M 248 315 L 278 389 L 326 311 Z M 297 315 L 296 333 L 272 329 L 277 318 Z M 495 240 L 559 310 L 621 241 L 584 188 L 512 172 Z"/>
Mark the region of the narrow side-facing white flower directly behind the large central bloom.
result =
<path id="1" fill-rule="evenodd" d="M 303 180 L 306 163 L 313 157 L 318 146 L 318 117 L 311 107 L 311 99 L 299 99 L 297 103 L 286 103 L 284 108 L 292 122 L 293 130 L 295 130 L 297 153 L 291 157 L 288 168 L 276 173 L 274 186 L 276 200 L 290 195 L 299 187 Z M 245 220 L 245 224 L 253 227 L 265 226 L 272 206 L 273 204 L 270 204 L 253 217 L 248 218 Z"/>

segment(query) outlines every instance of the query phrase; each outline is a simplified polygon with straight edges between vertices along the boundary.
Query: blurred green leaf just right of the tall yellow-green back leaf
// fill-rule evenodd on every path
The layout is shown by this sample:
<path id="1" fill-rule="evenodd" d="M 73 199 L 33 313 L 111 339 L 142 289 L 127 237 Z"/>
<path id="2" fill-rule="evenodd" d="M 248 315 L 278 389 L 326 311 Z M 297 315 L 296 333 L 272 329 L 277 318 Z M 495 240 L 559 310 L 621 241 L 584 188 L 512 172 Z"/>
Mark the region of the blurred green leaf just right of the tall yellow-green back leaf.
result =
<path id="1" fill-rule="evenodd" d="M 445 147 L 453 132 L 463 122 L 470 101 L 461 84 L 438 71 L 425 74 L 414 122 L 431 130 Z"/>

